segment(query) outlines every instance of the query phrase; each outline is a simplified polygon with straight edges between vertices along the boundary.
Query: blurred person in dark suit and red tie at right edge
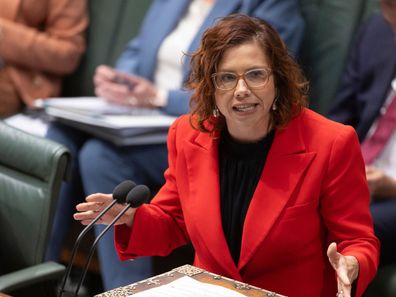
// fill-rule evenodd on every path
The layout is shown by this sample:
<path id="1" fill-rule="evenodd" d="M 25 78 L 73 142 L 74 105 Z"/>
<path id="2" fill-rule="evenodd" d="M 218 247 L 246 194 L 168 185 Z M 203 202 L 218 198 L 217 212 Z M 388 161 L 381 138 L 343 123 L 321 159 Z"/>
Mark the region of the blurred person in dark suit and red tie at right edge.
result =
<path id="1" fill-rule="evenodd" d="M 357 34 L 328 115 L 359 136 L 380 264 L 386 265 L 396 263 L 396 0 L 380 4 L 382 13 Z"/>

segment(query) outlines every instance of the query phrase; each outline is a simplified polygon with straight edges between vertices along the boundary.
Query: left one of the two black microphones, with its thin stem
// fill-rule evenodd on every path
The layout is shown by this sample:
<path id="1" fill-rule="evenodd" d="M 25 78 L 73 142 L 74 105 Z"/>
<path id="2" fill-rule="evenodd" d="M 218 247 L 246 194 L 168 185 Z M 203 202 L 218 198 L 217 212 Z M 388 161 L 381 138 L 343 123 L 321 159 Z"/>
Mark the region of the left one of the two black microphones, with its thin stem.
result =
<path id="1" fill-rule="evenodd" d="M 116 204 L 116 203 L 124 204 L 125 201 L 126 201 L 126 197 L 127 197 L 128 193 L 135 186 L 136 186 L 136 184 L 133 181 L 131 181 L 131 180 L 125 180 L 122 183 L 120 183 L 119 185 L 117 185 L 114 188 L 114 190 L 113 190 L 113 201 L 105 209 L 103 209 L 98 214 L 98 216 L 91 223 L 89 223 L 89 225 L 87 225 L 81 231 L 81 233 L 78 235 L 78 237 L 77 237 L 77 239 L 76 239 L 76 241 L 74 243 L 73 249 L 72 249 L 72 253 L 71 253 L 71 256 L 70 256 L 69 264 L 67 266 L 66 273 L 65 273 L 65 276 L 64 276 L 63 281 L 62 281 L 62 285 L 61 285 L 60 290 L 59 290 L 59 297 L 61 297 L 63 295 L 63 292 L 65 292 L 66 281 L 67 281 L 67 278 L 70 276 L 71 269 L 72 269 L 73 262 L 74 262 L 74 258 L 76 257 L 77 248 L 80 246 L 81 240 L 88 233 L 88 231 L 93 228 L 95 223 L 97 221 L 99 221 L 100 218 L 103 217 L 104 214 L 107 213 L 110 208 L 113 207 L 114 204 Z"/>

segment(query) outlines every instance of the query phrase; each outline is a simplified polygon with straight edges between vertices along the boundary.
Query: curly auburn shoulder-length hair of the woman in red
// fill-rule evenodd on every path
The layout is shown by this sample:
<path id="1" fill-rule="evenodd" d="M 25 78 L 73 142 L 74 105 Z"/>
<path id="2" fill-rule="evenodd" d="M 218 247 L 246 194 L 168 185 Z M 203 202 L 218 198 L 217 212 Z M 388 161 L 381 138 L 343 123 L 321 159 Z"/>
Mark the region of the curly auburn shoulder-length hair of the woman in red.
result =
<path id="1" fill-rule="evenodd" d="M 277 109 L 271 111 L 272 127 L 284 127 L 307 105 L 308 82 L 276 30 L 258 18 L 233 14 L 207 29 L 199 48 L 191 55 L 191 74 L 186 87 L 193 90 L 190 123 L 195 129 L 212 133 L 224 127 L 222 115 L 213 117 L 216 87 L 211 75 L 225 51 L 253 41 L 266 54 L 274 78 Z"/>

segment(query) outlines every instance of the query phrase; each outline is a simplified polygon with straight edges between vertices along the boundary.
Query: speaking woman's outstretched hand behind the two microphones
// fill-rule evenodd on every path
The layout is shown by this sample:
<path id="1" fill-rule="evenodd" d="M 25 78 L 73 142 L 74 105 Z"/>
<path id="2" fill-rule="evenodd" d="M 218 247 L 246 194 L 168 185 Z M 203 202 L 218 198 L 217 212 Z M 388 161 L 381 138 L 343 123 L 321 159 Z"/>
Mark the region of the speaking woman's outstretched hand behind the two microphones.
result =
<path id="1" fill-rule="evenodd" d="M 86 202 L 80 203 L 76 206 L 77 213 L 73 215 L 74 219 L 80 221 L 83 225 L 91 223 L 97 215 L 105 209 L 112 201 L 111 194 L 96 193 L 85 198 Z M 97 224 L 108 225 L 120 213 L 126 205 L 116 203 L 102 216 Z M 130 208 L 127 212 L 115 223 L 116 225 L 126 224 L 131 227 L 133 218 L 135 216 L 136 208 Z"/>

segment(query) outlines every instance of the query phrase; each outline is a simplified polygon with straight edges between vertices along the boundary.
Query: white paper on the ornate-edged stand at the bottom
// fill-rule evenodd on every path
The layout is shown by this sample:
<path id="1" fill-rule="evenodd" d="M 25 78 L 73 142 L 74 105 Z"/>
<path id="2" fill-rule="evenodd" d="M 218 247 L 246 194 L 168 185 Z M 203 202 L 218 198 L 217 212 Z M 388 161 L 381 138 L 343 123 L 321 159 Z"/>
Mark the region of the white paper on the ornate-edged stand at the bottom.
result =
<path id="1" fill-rule="evenodd" d="M 222 286 L 203 283 L 183 276 L 169 284 L 148 289 L 128 297 L 246 297 Z"/>

